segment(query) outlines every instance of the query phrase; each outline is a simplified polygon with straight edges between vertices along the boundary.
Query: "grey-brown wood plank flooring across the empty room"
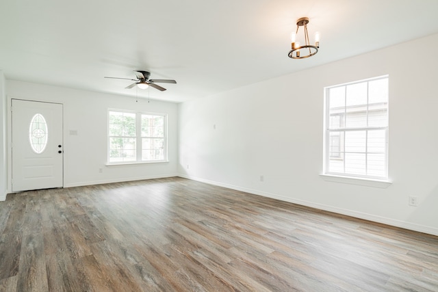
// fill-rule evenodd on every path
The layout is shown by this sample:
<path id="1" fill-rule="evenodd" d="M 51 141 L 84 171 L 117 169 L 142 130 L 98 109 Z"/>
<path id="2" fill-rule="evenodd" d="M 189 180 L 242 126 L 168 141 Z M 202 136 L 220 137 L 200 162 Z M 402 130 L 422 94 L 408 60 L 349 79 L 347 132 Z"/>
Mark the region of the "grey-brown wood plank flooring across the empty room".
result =
<path id="1" fill-rule="evenodd" d="M 438 237 L 184 178 L 27 191 L 0 291 L 438 291 Z"/>

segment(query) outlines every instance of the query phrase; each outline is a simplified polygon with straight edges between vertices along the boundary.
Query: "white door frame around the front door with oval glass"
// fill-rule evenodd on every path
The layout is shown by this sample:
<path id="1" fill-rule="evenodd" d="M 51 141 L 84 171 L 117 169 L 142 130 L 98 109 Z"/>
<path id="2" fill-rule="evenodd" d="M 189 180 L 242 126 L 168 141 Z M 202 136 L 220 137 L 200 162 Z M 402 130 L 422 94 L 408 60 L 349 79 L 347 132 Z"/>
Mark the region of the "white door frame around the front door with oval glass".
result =
<path id="1" fill-rule="evenodd" d="M 62 105 L 62 187 L 65 185 L 65 123 L 64 123 L 64 103 L 54 102 L 54 101 L 38 101 L 35 99 L 27 99 L 27 98 L 16 98 L 13 96 L 8 96 L 8 194 L 15 194 L 20 193 L 21 191 L 12 191 L 12 100 L 18 100 L 18 101 L 32 101 L 35 103 L 55 103 L 58 105 Z"/>

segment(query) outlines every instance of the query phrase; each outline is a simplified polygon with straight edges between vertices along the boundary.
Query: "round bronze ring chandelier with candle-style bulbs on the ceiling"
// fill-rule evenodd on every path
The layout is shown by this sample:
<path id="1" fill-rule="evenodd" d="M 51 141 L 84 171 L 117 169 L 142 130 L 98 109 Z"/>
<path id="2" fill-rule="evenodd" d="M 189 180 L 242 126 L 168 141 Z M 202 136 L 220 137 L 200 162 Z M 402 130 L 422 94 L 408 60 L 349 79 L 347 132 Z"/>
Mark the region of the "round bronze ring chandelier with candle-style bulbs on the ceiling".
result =
<path id="1" fill-rule="evenodd" d="M 296 32 L 292 33 L 292 50 L 287 54 L 292 59 L 304 59 L 311 57 L 318 53 L 320 47 L 320 33 L 315 34 L 315 45 L 310 44 L 309 33 L 307 32 L 307 23 L 309 23 L 308 17 L 302 17 L 296 21 Z M 300 42 L 296 41 L 298 35 L 298 29 L 304 27 L 304 44 L 300 45 Z"/>

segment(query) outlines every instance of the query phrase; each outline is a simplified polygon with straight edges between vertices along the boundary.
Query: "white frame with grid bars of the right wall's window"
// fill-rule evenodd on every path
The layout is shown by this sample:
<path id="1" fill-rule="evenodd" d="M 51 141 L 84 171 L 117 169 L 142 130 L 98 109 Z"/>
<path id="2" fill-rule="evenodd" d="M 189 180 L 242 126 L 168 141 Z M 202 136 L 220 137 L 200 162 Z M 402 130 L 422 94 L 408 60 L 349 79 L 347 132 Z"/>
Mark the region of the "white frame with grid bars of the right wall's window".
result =
<path id="1" fill-rule="evenodd" d="M 379 79 L 387 79 L 387 84 L 388 84 L 388 88 L 387 88 L 387 92 L 388 92 L 388 96 L 387 96 L 387 101 L 386 101 L 386 126 L 385 127 L 376 127 L 376 126 L 368 126 L 369 122 L 370 122 L 370 112 L 372 112 L 373 110 L 370 109 L 370 105 L 373 105 L 373 103 L 370 103 L 370 94 L 369 94 L 369 83 L 370 81 L 376 81 Z M 354 85 L 354 84 L 358 84 L 358 83 L 367 83 L 366 84 L 366 104 L 363 104 L 361 106 L 365 106 L 366 107 L 366 119 L 367 119 L 367 126 L 365 127 L 346 127 L 346 125 L 344 124 L 343 127 L 341 127 L 342 122 L 339 123 L 339 128 L 332 128 L 330 129 L 330 120 L 331 120 L 331 107 L 330 107 L 330 90 L 333 88 L 340 88 L 340 87 L 347 87 L 348 85 Z M 347 115 L 347 109 L 348 109 L 348 105 L 347 105 L 347 93 L 345 93 L 345 104 L 344 104 L 344 113 L 340 113 L 340 115 L 344 115 L 345 120 L 347 119 L 346 115 Z M 350 107 L 352 107 L 350 105 Z M 354 107 L 354 105 L 353 105 Z M 384 147 L 384 170 L 383 170 L 383 176 L 373 176 L 373 175 L 369 175 L 368 174 L 368 155 L 369 154 L 373 154 L 372 152 L 368 151 L 368 142 L 369 142 L 369 137 L 368 137 L 368 133 L 369 131 L 381 131 L 381 130 L 385 130 L 385 147 Z M 359 131 L 365 131 L 365 151 L 363 152 L 365 154 L 365 174 L 354 174 L 354 173 L 350 173 L 350 172 L 346 172 L 346 167 L 345 167 L 345 159 L 344 159 L 344 155 L 345 155 L 345 140 L 344 143 L 342 143 L 341 141 L 339 141 L 339 152 L 340 155 L 339 157 L 333 157 L 331 156 L 331 138 L 333 137 L 331 134 L 331 132 L 338 132 L 339 133 L 339 139 L 344 139 L 342 137 L 346 136 L 346 133 L 350 132 L 350 131 L 356 131 L 357 133 L 359 133 Z M 337 176 L 337 177 L 344 177 L 344 178 L 359 178 L 359 179 L 365 179 L 365 180 L 376 180 L 376 181 L 387 181 L 388 180 L 388 169 L 389 169 L 389 163 L 388 163 L 388 137 L 389 137 L 389 75 L 383 75 L 383 76 L 379 76 L 379 77 L 373 77 L 373 78 L 369 78 L 369 79 L 363 79 L 363 80 L 359 80 L 359 81 L 352 81 L 352 82 L 348 82 L 348 83 L 342 83 L 342 84 L 338 84 L 338 85 L 333 85 L 333 86 L 327 86 L 324 88 L 324 155 L 323 155 L 323 175 L 325 176 Z M 344 161 L 344 172 L 335 172 L 335 171 L 329 171 L 329 165 L 330 165 L 330 160 L 343 160 Z"/>

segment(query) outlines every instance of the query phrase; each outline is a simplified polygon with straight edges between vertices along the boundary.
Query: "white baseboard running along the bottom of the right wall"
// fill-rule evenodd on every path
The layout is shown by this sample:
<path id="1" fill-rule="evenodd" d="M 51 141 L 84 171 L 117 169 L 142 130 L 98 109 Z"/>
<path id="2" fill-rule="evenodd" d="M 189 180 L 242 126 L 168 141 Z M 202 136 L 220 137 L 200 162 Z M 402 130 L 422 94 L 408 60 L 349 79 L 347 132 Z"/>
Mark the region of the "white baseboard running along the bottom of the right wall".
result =
<path id="1" fill-rule="evenodd" d="M 264 192 L 264 191 L 258 191 L 256 189 L 248 189 L 246 187 L 239 187 L 236 185 L 229 185 L 226 183 L 218 183 L 216 181 L 209 181 L 207 179 L 198 178 L 195 176 L 187 176 L 187 175 L 181 175 L 181 174 L 179 174 L 178 176 L 180 176 L 182 178 L 188 178 L 188 179 L 191 179 L 193 181 L 199 181 L 201 183 L 208 183 L 209 185 L 217 185 L 218 187 L 226 187 L 227 189 L 235 189 L 236 191 L 244 191 L 246 193 L 255 194 L 257 196 L 264 196 L 264 197 L 273 198 L 276 200 L 281 200 L 284 202 L 291 202 L 294 204 L 299 204 L 299 205 L 302 205 L 305 207 L 311 207 L 314 209 L 320 209 L 323 211 L 329 211 L 329 212 L 347 215 L 350 217 L 355 217 L 355 218 L 368 220 L 368 221 L 372 221 L 372 222 L 376 222 L 376 223 L 386 224 L 389 226 L 404 228 L 404 229 L 408 229 L 408 230 L 417 231 L 420 233 L 427 233 L 430 235 L 438 236 L 438 228 L 432 228 L 430 226 L 413 224 L 410 222 L 405 222 L 405 221 L 401 221 L 401 220 L 394 220 L 394 219 L 387 218 L 387 217 L 381 217 L 381 216 L 372 215 L 372 214 L 368 214 L 368 213 L 361 213 L 361 212 L 352 211 L 352 210 L 348 210 L 348 209 L 337 208 L 337 207 L 333 207 L 333 206 L 329 206 L 329 205 L 325 205 L 325 204 L 309 202 L 306 200 L 297 200 L 297 199 L 287 198 L 285 196 L 271 194 L 271 193 Z"/>

